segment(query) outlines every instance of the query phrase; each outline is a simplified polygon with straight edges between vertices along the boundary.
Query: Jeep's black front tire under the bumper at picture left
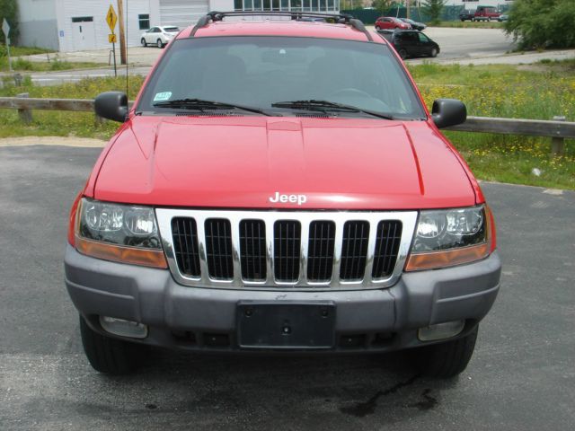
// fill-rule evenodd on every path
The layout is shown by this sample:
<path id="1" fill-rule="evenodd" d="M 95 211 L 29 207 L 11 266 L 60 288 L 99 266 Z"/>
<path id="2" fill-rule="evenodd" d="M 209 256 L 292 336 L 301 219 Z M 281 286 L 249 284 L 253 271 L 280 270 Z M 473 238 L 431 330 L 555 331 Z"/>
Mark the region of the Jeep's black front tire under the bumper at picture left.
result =
<path id="1" fill-rule="evenodd" d="M 142 346 L 111 339 L 94 332 L 80 316 L 80 335 L 84 353 L 93 369 L 107 374 L 129 374 L 137 369 Z"/>

